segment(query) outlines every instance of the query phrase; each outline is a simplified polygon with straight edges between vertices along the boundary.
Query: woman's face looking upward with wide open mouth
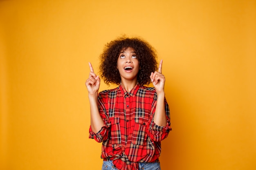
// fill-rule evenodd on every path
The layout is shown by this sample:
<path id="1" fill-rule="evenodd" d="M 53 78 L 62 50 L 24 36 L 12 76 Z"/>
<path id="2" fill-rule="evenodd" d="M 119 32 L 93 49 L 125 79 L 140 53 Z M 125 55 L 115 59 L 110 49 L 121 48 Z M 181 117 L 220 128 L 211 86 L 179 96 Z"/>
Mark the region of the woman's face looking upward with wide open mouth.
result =
<path id="1" fill-rule="evenodd" d="M 117 69 L 122 82 L 126 80 L 137 81 L 139 60 L 137 59 L 134 49 L 129 47 L 120 52 L 117 59 Z"/>

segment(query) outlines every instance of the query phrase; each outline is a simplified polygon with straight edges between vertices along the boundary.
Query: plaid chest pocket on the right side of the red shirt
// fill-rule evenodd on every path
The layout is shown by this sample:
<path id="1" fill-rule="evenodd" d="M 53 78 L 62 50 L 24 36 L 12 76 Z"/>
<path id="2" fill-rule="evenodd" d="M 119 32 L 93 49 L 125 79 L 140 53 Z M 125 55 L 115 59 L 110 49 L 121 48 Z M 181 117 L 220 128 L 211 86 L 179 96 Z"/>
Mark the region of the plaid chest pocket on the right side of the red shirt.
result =
<path id="1" fill-rule="evenodd" d="M 135 145 L 146 145 L 146 140 L 148 134 L 146 132 L 146 127 L 148 124 L 148 119 L 144 117 L 135 118 L 135 126 L 132 133 L 132 144 Z"/>

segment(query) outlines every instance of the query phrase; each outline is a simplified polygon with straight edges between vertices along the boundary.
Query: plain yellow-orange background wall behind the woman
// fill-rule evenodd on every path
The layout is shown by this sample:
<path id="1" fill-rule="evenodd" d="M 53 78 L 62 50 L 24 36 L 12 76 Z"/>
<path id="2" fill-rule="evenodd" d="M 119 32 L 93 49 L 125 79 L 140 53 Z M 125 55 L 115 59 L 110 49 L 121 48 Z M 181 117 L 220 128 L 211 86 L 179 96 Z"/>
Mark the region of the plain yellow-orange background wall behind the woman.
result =
<path id="1" fill-rule="evenodd" d="M 101 169 L 84 83 L 122 34 L 164 60 L 162 170 L 255 170 L 255 0 L 0 0 L 0 169 Z"/>

